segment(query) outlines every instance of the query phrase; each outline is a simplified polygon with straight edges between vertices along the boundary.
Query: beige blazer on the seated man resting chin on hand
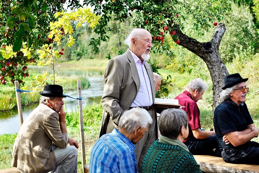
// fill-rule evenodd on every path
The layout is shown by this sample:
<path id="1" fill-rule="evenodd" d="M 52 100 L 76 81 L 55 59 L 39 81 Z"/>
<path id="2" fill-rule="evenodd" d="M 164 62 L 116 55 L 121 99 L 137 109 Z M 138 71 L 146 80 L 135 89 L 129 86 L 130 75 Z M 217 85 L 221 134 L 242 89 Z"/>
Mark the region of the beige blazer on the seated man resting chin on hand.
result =
<path id="1" fill-rule="evenodd" d="M 22 124 L 14 142 L 11 165 L 26 173 L 45 173 L 56 166 L 52 141 L 66 148 L 67 133 L 62 133 L 58 113 L 44 104 L 32 111 Z"/>

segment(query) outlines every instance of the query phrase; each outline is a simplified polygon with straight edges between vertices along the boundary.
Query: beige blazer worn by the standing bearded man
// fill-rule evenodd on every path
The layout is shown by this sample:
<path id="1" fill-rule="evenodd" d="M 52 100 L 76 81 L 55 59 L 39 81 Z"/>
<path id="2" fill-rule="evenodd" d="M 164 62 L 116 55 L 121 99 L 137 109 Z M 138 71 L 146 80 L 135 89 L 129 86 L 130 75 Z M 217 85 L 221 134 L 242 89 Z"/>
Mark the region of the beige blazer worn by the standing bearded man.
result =
<path id="1" fill-rule="evenodd" d="M 153 103 L 155 102 L 155 82 L 153 71 L 147 62 L 145 68 L 150 80 Z M 127 50 L 124 54 L 109 60 L 104 76 L 104 90 L 101 99 L 103 114 L 100 137 L 117 128 L 124 110 L 128 110 L 140 88 L 136 63 Z M 147 96 L 148 97 L 148 96 Z"/>

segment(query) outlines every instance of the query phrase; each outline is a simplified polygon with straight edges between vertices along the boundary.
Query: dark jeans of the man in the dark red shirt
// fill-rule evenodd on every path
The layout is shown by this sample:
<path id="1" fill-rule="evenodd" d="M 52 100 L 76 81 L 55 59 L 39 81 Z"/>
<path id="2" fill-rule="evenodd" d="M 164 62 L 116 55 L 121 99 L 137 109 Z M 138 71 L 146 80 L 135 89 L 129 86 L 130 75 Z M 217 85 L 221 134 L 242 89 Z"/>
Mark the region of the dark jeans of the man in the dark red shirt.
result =
<path id="1" fill-rule="evenodd" d="M 210 155 L 221 157 L 221 151 L 218 150 L 216 135 L 212 135 L 206 139 L 196 139 L 193 137 L 193 139 L 186 141 L 184 144 L 193 155 Z M 213 149 L 215 149 L 215 152 Z"/>

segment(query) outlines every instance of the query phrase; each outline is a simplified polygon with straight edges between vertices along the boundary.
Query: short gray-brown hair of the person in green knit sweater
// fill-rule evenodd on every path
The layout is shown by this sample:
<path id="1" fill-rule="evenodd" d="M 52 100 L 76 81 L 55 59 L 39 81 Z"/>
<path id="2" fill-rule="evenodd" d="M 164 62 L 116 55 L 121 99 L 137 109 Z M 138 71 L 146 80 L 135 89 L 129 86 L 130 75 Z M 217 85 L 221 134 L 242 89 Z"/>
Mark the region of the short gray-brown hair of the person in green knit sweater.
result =
<path id="1" fill-rule="evenodd" d="M 188 127 L 188 115 L 182 109 L 165 109 L 158 118 L 160 134 L 170 139 L 177 139 L 182 126 Z"/>

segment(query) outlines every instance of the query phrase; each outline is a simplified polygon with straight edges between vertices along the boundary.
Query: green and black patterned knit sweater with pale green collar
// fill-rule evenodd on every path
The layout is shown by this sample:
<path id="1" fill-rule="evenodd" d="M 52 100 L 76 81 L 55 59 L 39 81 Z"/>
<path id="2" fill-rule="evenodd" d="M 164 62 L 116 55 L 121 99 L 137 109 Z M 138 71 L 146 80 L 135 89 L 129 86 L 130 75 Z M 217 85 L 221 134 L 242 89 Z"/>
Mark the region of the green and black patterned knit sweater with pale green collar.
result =
<path id="1" fill-rule="evenodd" d="M 201 169 L 184 143 L 160 135 L 146 153 L 143 173 L 169 172 L 201 173 Z"/>

